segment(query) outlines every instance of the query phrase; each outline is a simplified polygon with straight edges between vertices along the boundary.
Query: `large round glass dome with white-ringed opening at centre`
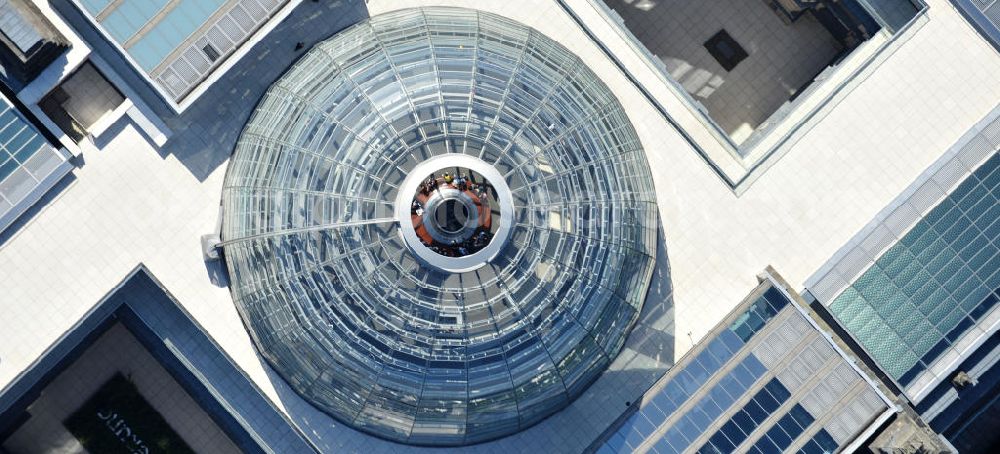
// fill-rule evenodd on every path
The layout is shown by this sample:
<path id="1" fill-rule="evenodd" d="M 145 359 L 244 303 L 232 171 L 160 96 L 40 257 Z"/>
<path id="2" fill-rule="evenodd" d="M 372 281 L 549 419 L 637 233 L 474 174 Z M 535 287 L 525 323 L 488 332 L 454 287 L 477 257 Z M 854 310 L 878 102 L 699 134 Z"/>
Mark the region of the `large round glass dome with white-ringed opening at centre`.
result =
<path id="1" fill-rule="evenodd" d="M 455 190 L 431 221 L 457 253 L 409 233 L 432 174 Z M 561 45 L 473 10 L 392 12 L 309 50 L 247 123 L 223 203 L 262 356 L 317 408 L 412 444 L 489 440 L 568 405 L 621 349 L 656 250 L 615 97 Z"/>

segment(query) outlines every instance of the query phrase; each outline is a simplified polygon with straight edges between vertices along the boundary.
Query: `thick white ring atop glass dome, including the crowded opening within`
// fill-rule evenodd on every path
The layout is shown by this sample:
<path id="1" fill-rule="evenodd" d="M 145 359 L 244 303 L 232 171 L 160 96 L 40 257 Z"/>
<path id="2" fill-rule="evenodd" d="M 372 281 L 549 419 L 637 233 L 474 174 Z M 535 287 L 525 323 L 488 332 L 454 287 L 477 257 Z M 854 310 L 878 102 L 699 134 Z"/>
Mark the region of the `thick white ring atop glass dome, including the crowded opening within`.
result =
<path id="1" fill-rule="evenodd" d="M 447 153 L 410 171 L 396 216 L 403 241 L 425 265 L 462 273 L 486 265 L 503 249 L 513 205 L 496 168 L 474 156 Z"/>

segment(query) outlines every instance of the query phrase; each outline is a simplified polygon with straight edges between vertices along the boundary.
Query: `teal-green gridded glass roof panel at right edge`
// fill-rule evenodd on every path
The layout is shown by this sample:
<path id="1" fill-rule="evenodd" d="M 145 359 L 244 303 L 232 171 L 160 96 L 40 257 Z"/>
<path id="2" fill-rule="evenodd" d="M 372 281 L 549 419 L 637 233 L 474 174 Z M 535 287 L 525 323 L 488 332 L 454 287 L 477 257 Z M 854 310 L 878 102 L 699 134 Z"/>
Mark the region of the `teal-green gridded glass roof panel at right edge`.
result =
<path id="1" fill-rule="evenodd" d="M 830 304 L 903 386 L 1000 296 L 1000 154 L 976 169 Z"/>

